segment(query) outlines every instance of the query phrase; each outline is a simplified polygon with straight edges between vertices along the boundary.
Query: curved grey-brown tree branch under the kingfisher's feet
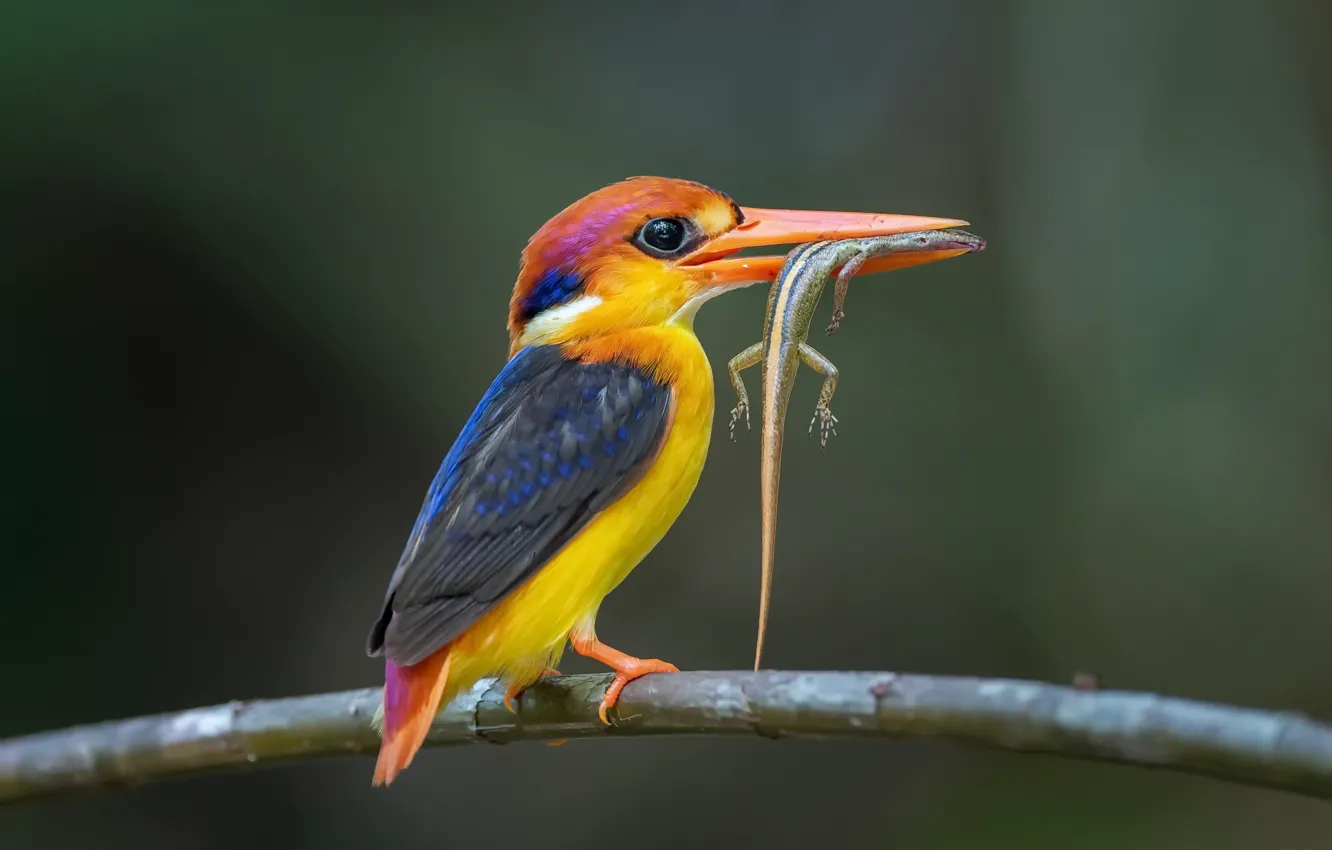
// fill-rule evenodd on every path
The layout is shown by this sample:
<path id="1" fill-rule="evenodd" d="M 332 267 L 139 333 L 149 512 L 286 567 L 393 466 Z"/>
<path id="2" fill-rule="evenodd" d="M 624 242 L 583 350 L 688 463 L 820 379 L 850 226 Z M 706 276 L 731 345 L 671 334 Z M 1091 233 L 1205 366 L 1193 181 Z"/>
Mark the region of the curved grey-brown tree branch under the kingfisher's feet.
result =
<path id="1" fill-rule="evenodd" d="M 494 681 L 436 719 L 428 745 L 606 735 L 934 738 L 1164 767 L 1332 799 L 1332 727 L 1147 693 L 895 673 L 674 673 L 630 683 L 597 719 L 610 675 L 529 689 L 517 714 Z M 374 753 L 380 690 L 256 699 L 0 741 L 0 803 L 224 767 Z M 369 775 L 369 774 L 366 774 Z M 369 785 L 369 779 L 366 779 Z"/>

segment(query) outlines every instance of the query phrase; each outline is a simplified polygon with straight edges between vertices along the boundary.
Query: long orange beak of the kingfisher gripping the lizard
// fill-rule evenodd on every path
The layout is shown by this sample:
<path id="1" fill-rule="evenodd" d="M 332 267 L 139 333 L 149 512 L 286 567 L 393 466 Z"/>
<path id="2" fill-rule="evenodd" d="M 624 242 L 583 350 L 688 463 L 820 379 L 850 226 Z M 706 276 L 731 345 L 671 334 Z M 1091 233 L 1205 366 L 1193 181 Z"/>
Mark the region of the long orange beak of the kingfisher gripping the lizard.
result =
<path id="1" fill-rule="evenodd" d="M 745 248 L 794 245 L 825 238 L 855 238 L 862 236 L 890 236 L 914 230 L 940 230 L 960 228 L 960 218 L 934 218 L 930 216 L 899 216 L 892 213 L 822 212 L 815 209 L 762 209 L 741 207 L 745 221 L 699 246 L 685 265 L 705 273 L 705 285 L 734 288 L 777 280 L 786 254 L 759 254 L 731 257 Z M 875 257 L 860 268 L 860 274 L 902 269 L 910 265 L 946 260 L 967 253 L 952 250 L 907 250 Z"/>

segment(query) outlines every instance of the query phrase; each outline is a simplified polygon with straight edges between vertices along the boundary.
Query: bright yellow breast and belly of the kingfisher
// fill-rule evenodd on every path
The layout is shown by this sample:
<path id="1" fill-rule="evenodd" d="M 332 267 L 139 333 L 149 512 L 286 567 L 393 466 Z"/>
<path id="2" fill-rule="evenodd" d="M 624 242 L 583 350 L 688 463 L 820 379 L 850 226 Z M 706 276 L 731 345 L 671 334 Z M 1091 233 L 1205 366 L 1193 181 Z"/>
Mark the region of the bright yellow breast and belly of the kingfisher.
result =
<path id="1" fill-rule="evenodd" d="M 693 496 L 713 432 L 707 356 L 683 326 L 630 334 L 622 340 L 625 349 L 653 352 L 658 376 L 671 385 L 671 418 L 657 460 L 625 496 L 454 641 L 445 699 L 486 675 L 521 686 L 558 663 L 570 630 L 590 626 L 601 601 L 665 537 Z"/>

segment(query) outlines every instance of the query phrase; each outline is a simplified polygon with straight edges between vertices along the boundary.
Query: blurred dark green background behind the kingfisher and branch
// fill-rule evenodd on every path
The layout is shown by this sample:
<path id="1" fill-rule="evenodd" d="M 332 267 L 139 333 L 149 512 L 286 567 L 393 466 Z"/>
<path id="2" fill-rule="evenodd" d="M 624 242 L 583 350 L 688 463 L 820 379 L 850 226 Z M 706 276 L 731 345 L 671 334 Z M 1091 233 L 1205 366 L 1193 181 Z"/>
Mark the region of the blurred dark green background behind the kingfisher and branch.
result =
<path id="1" fill-rule="evenodd" d="M 862 278 L 817 342 L 842 425 L 803 438 L 803 373 L 771 666 L 1332 715 L 1328 32 L 1321 0 L 5 4 L 0 734 L 377 683 L 362 641 L 503 361 L 518 250 L 639 173 L 990 240 Z M 765 297 L 698 318 L 710 462 L 602 609 L 615 646 L 751 659 L 725 364 Z M 1311 801 L 938 743 L 370 769 L 52 799 L 0 845 L 1332 846 Z"/>

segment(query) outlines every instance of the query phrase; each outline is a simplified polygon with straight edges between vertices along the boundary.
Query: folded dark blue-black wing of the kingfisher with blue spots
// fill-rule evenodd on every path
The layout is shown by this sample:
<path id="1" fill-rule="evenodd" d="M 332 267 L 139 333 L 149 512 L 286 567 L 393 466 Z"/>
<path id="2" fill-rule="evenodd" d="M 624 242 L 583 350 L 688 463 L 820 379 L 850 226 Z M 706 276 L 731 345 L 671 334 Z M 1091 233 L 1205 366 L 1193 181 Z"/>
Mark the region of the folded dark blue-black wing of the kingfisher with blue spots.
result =
<path id="1" fill-rule="evenodd" d="M 430 484 L 366 650 L 417 663 L 481 618 L 623 494 L 669 406 L 634 366 L 518 352 Z"/>

